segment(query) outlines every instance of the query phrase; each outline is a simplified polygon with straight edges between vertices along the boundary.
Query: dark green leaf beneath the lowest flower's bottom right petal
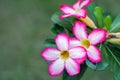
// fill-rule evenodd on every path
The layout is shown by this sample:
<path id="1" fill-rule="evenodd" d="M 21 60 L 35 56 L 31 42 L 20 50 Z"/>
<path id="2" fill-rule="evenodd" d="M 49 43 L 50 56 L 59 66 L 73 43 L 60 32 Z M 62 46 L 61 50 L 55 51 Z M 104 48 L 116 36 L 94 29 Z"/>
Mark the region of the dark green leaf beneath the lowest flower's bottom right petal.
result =
<path id="1" fill-rule="evenodd" d="M 69 76 L 69 74 L 66 72 L 66 70 L 64 70 L 64 73 L 63 73 L 63 77 L 62 77 L 62 80 L 80 80 L 84 74 L 84 72 L 86 71 L 87 69 L 87 66 L 86 64 L 82 64 L 80 66 L 80 73 L 75 75 L 75 76 Z"/>

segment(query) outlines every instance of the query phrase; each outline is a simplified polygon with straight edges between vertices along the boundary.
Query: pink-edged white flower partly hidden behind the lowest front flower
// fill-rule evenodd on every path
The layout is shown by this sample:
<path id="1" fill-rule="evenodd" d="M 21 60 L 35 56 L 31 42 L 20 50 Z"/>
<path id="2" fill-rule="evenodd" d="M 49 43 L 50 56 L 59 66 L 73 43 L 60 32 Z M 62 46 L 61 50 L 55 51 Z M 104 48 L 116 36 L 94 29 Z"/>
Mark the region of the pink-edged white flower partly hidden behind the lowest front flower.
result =
<path id="1" fill-rule="evenodd" d="M 83 46 L 86 48 L 88 59 L 91 62 L 101 62 L 100 50 L 95 45 L 105 41 L 107 32 L 104 29 L 97 28 L 87 35 L 86 25 L 77 21 L 74 24 L 73 33 L 76 38 L 70 39 L 70 47 Z"/>

